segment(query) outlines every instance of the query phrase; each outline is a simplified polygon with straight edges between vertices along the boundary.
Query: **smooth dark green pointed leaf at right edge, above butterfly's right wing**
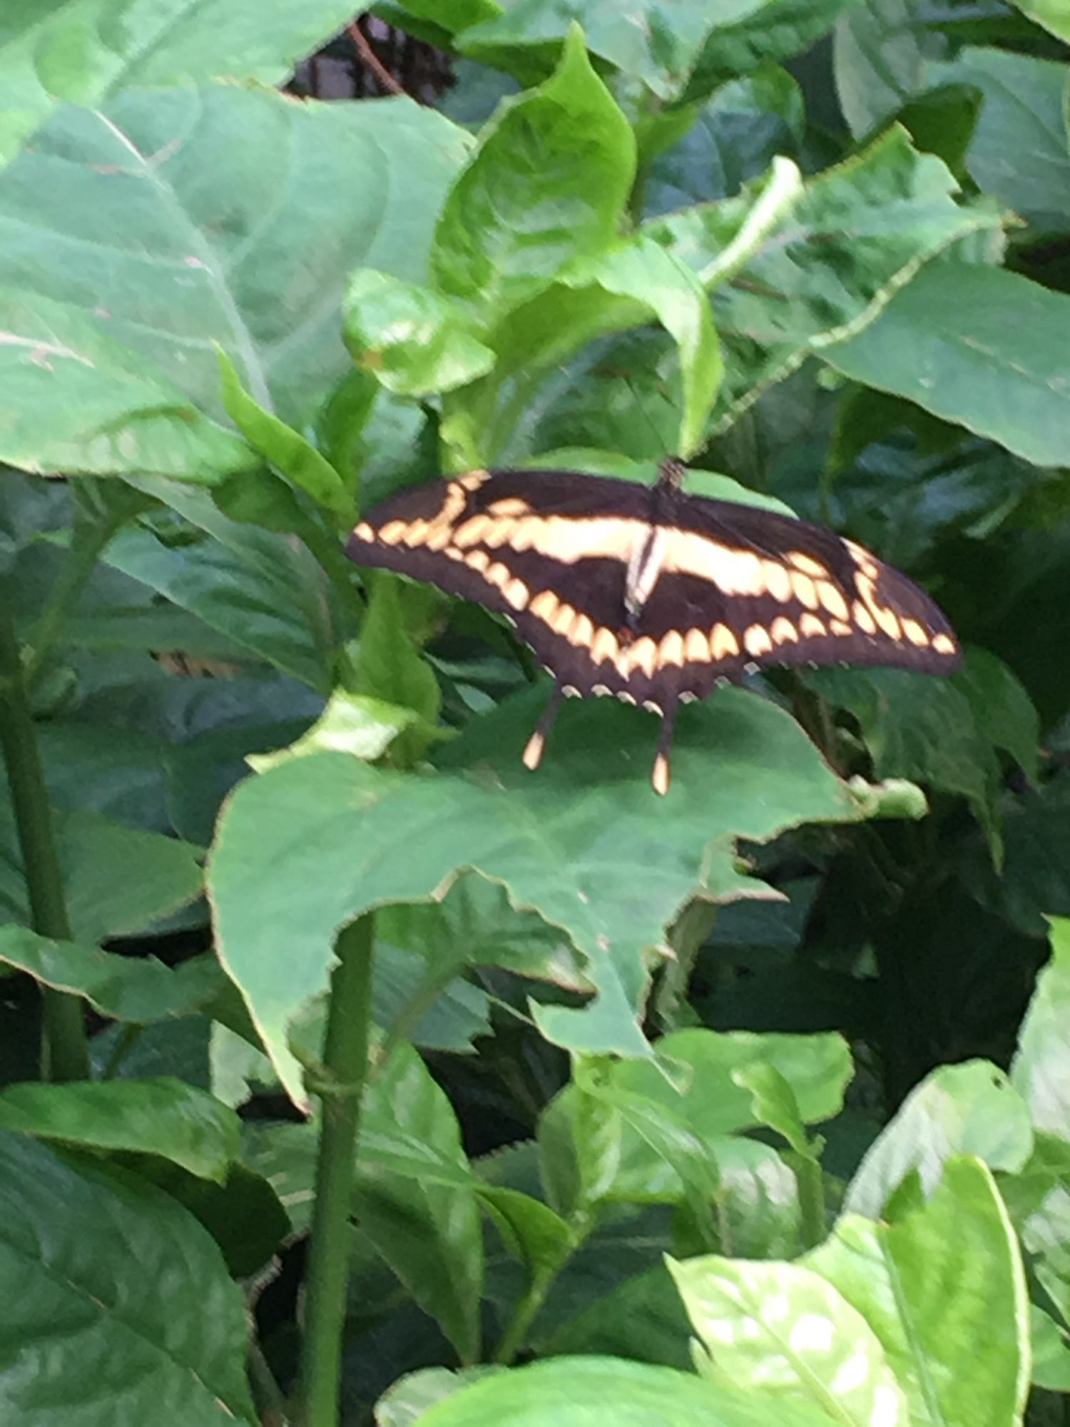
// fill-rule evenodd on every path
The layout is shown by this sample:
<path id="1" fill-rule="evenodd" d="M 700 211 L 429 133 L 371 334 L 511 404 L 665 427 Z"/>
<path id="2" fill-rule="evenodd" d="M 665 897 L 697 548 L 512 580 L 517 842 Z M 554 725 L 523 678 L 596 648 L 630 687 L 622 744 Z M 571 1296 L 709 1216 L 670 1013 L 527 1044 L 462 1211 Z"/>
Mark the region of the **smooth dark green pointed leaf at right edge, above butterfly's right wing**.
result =
<path id="1" fill-rule="evenodd" d="M 1027 461 L 1066 465 L 1070 392 L 1057 364 L 1067 323 L 1064 293 L 1000 268 L 937 263 L 822 360 Z"/>

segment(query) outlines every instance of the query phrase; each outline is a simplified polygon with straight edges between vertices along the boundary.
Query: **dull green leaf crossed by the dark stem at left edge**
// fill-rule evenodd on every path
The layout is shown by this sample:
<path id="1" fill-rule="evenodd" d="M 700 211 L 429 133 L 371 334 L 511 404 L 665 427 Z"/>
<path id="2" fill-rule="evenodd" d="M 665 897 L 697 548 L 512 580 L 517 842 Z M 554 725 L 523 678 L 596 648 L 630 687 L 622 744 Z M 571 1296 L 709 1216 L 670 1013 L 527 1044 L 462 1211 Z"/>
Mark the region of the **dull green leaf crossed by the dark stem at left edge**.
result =
<path id="1" fill-rule="evenodd" d="M 53 809 L 67 912 L 77 942 L 141 932 L 201 890 L 200 849 L 98 813 Z M 0 922 L 30 926 L 11 808 L 0 799 Z M 116 869 L 123 870 L 116 876 Z"/>

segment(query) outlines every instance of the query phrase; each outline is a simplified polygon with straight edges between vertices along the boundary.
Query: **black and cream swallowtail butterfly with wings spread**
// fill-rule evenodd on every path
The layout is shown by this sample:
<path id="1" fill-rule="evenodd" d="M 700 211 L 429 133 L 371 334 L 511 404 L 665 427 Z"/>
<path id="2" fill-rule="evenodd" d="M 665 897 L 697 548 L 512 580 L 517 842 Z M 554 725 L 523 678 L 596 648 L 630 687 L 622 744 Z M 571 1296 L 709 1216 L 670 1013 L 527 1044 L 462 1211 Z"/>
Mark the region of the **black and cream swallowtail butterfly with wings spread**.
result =
<path id="1" fill-rule="evenodd" d="M 661 715 L 655 791 L 669 786 L 676 706 L 766 665 L 960 662 L 936 604 L 820 525 L 582 471 L 471 471 L 408 487 L 361 519 L 358 565 L 504 614 L 554 676 L 524 752 L 535 768 L 562 696 L 615 695 Z"/>

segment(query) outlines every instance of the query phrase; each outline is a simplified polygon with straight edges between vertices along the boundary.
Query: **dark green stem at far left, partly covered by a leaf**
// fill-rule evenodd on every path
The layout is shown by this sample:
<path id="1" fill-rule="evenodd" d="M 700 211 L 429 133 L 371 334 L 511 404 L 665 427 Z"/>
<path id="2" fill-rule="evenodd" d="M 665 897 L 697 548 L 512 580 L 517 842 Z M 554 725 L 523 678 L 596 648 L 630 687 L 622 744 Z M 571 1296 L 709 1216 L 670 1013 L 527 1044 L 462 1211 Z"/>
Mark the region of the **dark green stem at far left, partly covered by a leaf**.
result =
<path id="1" fill-rule="evenodd" d="M 14 825 L 23 855 L 30 920 L 40 936 L 71 939 L 60 858 L 44 786 L 41 753 L 26 694 L 19 636 L 7 588 L 0 588 L 0 749 L 11 789 Z M 68 992 L 41 987 L 44 1040 L 41 1069 L 49 1080 L 87 1080 L 88 1037 L 81 1002 Z"/>

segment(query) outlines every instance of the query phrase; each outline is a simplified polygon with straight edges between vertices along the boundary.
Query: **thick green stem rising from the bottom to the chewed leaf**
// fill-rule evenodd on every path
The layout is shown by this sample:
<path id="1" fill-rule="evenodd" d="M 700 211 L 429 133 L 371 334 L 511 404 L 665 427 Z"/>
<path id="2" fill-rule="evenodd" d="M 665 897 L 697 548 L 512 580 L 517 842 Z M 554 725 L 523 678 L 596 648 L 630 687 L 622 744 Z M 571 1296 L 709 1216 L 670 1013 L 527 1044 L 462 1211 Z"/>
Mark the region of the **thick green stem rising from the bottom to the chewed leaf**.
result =
<path id="1" fill-rule="evenodd" d="M 338 966 L 324 1040 L 322 1129 L 315 1169 L 315 1207 L 305 1279 L 301 1347 L 302 1427 L 337 1427 L 338 1374 L 350 1273 L 350 1200 L 357 1123 L 368 1070 L 371 1032 L 372 918 L 338 936 Z"/>

